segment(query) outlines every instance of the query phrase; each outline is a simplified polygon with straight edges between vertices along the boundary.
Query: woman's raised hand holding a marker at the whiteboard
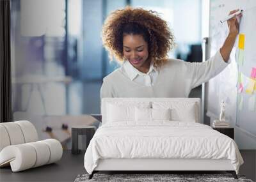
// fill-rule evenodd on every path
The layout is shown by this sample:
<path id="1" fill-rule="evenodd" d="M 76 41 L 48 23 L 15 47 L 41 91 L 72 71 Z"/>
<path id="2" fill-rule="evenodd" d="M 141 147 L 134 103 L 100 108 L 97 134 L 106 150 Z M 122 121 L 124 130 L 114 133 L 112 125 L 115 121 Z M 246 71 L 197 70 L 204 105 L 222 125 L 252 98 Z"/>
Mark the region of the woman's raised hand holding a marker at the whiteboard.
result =
<path id="1" fill-rule="evenodd" d="M 230 11 L 228 15 L 236 13 L 237 11 L 239 11 L 239 9 Z M 232 19 L 229 19 L 227 21 L 230 35 L 237 36 L 237 34 L 239 34 L 239 23 L 238 23 L 238 21 L 241 19 L 241 17 L 242 17 L 242 13 L 239 13 L 239 15 L 235 15 Z"/>

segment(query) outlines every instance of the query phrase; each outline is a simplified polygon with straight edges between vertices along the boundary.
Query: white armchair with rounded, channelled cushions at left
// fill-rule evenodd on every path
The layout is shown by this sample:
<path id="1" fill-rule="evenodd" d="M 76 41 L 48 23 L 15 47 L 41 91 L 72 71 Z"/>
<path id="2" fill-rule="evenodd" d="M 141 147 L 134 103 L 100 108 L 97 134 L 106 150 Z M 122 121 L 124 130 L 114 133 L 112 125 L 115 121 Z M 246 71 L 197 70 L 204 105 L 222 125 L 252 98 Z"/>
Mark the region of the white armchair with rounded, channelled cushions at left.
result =
<path id="1" fill-rule="evenodd" d="M 0 123 L 0 167 L 11 165 L 12 171 L 56 162 L 63 149 L 58 140 L 38 140 L 35 127 L 29 121 Z"/>

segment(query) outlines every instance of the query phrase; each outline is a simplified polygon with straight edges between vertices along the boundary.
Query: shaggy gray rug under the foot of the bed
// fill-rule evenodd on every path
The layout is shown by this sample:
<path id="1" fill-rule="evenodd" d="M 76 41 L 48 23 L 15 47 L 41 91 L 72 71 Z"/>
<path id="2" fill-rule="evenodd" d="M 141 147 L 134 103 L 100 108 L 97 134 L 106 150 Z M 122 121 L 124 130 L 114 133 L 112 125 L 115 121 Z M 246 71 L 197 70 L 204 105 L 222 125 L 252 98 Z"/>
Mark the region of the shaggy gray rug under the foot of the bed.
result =
<path id="1" fill-rule="evenodd" d="M 88 179 L 89 174 L 78 175 L 75 182 L 86 181 L 172 181 L 172 182 L 185 182 L 185 181 L 243 181 L 253 182 L 251 179 L 246 179 L 244 176 L 239 176 L 239 179 L 234 179 L 232 174 L 94 174 L 92 179 Z"/>

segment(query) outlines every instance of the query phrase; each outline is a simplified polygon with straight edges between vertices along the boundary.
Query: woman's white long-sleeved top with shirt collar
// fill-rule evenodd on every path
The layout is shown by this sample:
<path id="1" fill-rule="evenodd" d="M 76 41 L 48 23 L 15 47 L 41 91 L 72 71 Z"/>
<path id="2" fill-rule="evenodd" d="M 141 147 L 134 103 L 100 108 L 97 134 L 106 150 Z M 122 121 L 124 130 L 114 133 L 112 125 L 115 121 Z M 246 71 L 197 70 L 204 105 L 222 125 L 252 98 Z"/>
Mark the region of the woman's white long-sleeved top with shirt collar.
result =
<path id="1" fill-rule="evenodd" d="M 202 63 L 169 59 L 160 68 L 151 65 L 148 73 L 138 72 L 127 61 L 104 77 L 100 98 L 187 98 L 191 89 L 218 75 L 228 63 L 220 50 Z"/>

